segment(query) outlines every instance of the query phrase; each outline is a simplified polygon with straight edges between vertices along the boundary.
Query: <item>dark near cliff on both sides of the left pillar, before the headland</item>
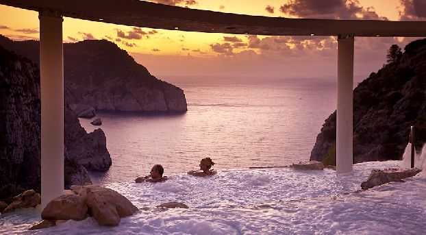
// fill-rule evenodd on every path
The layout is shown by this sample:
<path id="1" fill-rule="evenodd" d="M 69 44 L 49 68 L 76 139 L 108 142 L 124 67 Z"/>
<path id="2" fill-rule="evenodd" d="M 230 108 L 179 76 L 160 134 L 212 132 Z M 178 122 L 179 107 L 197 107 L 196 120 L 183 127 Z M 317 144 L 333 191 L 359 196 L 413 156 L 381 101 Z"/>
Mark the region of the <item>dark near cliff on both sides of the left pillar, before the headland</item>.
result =
<path id="1" fill-rule="evenodd" d="M 105 135 L 100 129 L 87 134 L 68 106 L 64 116 L 66 184 L 90 182 L 77 162 L 89 169 L 108 169 L 111 158 Z M 40 121 L 38 66 L 0 47 L 0 188 L 40 187 Z"/>

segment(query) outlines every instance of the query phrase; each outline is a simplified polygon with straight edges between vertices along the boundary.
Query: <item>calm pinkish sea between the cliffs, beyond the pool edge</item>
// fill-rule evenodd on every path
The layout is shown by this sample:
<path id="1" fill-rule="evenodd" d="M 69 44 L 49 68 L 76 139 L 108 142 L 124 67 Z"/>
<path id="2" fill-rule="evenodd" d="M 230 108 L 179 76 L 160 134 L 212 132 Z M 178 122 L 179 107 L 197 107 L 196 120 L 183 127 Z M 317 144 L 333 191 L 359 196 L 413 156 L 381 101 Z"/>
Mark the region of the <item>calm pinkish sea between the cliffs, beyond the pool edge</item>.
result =
<path id="1" fill-rule="evenodd" d="M 205 157 L 218 170 L 308 160 L 321 125 L 336 109 L 332 79 L 174 84 L 184 89 L 185 114 L 99 112 L 112 166 L 92 173 L 92 181 L 132 181 L 153 164 L 162 164 L 165 175 L 186 172 Z M 89 119 L 80 123 L 88 132 L 97 128 Z"/>

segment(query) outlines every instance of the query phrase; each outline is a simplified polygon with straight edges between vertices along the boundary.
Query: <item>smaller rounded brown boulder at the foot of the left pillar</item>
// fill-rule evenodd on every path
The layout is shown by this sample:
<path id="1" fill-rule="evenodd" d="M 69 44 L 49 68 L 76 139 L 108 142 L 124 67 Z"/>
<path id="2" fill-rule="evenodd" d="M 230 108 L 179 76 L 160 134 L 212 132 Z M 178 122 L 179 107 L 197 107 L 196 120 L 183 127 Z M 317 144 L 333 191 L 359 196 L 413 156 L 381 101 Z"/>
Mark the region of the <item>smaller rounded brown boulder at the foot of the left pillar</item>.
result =
<path id="1" fill-rule="evenodd" d="M 80 221 L 87 217 L 87 212 L 88 208 L 82 197 L 67 194 L 49 201 L 41 213 L 41 218 L 55 221 L 67 219 Z"/>

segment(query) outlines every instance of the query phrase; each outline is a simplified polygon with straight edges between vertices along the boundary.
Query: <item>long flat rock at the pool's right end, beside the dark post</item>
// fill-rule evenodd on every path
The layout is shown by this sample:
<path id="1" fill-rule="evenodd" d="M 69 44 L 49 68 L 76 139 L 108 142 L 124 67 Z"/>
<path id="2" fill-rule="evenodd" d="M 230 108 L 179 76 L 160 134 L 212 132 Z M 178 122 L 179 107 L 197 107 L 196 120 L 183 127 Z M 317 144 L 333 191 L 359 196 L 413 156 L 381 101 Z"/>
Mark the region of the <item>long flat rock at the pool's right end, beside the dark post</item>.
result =
<path id="1" fill-rule="evenodd" d="M 368 189 L 389 182 L 399 182 L 405 178 L 413 177 L 421 172 L 421 169 L 373 169 L 366 182 L 362 182 L 361 188 Z"/>

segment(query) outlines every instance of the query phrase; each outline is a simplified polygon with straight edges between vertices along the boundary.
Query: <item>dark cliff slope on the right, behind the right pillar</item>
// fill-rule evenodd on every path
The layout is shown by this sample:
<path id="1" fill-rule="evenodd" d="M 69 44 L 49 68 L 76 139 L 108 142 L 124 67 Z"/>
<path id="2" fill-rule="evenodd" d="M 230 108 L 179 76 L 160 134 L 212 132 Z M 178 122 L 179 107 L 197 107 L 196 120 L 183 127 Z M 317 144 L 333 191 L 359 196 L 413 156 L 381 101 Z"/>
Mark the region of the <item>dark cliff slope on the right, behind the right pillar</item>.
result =
<path id="1" fill-rule="evenodd" d="M 399 160 L 411 125 L 416 148 L 426 141 L 426 39 L 404 51 L 353 91 L 353 162 Z M 335 143 L 336 112 L 325 120 L 310 159 L 322 160 Z"/>

